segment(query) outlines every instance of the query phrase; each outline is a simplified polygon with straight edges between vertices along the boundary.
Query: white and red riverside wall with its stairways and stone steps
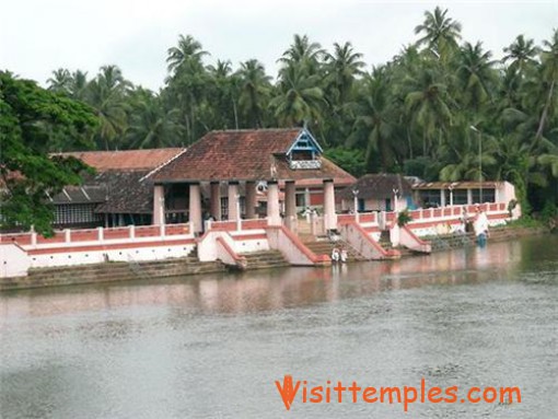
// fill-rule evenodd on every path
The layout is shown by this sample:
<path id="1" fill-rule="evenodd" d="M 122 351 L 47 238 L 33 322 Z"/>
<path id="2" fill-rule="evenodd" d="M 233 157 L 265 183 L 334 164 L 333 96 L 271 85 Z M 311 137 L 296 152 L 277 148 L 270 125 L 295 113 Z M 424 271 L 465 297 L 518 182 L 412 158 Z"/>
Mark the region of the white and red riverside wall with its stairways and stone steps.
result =
<path id="1" fill-rule="evenodd" d="M 533 229 L 503 226 L 510 221 L 503 203 L 481 207 L 490 223 L 488 243 L 532 234 Z M 2 234 L 0 290 L 228 269 L 323 267 L 332 264 L 334 246 L 347 251 L 349 263 L 396 260 L 473 245 L 473 234 L 461 233 L 461 220 L 463 213 L 473 217 L 476 209 L 454 206 L 410 211 L 411 221 L 403 226 L 392 211 L 335 214 L 328 220 L 334 229 L 326 229 L 326 217 L 312 217 L 311 224 L 305 218 L 278 217 L 209 222 L 202 235 L 193 233 L 191 223 L 65 230 L 51 237 L 33 232 Z"/>

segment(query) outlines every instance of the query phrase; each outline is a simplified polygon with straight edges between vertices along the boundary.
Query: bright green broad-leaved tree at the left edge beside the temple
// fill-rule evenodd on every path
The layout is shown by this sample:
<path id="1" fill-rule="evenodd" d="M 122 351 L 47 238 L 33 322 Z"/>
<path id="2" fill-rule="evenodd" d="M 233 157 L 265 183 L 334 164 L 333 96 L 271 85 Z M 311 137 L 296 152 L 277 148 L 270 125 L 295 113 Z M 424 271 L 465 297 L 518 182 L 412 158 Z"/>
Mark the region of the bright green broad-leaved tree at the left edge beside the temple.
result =
<path id="1" fill-rule="evenodd" d="M 95 126 L 89 106 L 0 72 L 1 226 L 51 232 L 48 196 L 79 184 L 86 170 L 77 159 L 49 155 L 53 140 L 88 148 Z"/>

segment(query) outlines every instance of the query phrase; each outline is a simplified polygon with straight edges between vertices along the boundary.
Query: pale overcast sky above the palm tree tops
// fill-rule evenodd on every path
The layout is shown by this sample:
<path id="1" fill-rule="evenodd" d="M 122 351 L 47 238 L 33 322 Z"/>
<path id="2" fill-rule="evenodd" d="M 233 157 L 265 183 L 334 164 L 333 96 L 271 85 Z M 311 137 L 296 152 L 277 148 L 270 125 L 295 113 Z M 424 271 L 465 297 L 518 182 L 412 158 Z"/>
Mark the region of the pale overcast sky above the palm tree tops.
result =
<path id="1" fill-rule="evenodd" d="M 463 40 L 481 40 L 495 58 L 518 35 L 540 45 L 558 28 L 558 0 L 1 0 L 0 70 L 46 85 L 58 68 L 94 77 L 117 65 L 135 84 L 158 91 L 166 77 L 166 50 L 193 35 L 211 56 L 257 58 L 275 77 L 277 59 L 294 34 L 332 49 L 349 40 L 363 60 L 382 65 L 418 39 L 415 26 L 437 5 L 463 26 Z"/>

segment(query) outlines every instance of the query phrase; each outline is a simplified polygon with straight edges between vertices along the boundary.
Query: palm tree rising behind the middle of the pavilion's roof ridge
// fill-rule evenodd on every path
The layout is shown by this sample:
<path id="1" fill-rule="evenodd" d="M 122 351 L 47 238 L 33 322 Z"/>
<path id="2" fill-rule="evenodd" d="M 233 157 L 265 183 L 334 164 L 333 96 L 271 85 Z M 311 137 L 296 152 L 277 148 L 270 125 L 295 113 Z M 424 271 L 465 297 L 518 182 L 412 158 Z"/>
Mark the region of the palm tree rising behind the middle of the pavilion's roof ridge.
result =
<path id="1" fill-rule="evenodd" d="M 271 90 L 271 78 L 266 74 L 264 65 L 256 59 L 241 63 L 239 105 L 251 128 L 264 127 L 264 116 Z"/>

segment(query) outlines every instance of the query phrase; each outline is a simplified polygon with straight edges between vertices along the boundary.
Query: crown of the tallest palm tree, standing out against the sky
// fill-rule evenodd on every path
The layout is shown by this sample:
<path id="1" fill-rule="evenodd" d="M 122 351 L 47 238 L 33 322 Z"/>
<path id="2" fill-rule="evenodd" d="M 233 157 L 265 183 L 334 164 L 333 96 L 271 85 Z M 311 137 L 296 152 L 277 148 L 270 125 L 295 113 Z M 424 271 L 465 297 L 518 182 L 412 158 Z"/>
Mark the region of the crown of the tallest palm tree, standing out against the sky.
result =
<path id="1" fill-rule="evenodd" d="M 447 9 L 442 11 L 437 7 L 433 13 L 425 12 L 425 22 L 415 27 L 416 34 L 423 33 L 417 45 L 426 45 L 441 58 L 455 50 L 457 40 L 461 39 L 461 23 L 446 18 L 446 14 Z"/>

